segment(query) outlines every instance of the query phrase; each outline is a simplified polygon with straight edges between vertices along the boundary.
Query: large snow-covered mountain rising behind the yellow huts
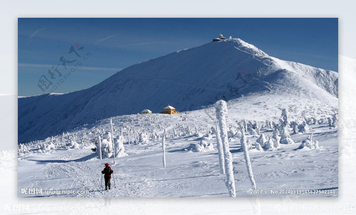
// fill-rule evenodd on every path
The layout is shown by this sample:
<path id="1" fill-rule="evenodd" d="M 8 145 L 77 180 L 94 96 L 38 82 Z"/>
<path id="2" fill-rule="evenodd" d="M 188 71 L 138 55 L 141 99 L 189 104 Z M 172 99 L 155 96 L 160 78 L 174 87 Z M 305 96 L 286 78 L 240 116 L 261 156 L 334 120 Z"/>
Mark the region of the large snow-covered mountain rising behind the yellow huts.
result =
<path id="1" fill-rule="evenodd" d="M 168 104 L 198 110 L 218 99 L 229 100 L 240 118 L 266 120 L 280 116 L 281 108 L 292 109 L 292 117 L 331 115 L 337 97 L 336 72 L 226 39 L 132 65 L 88 89 L 19 98 L 18 142 L 143 109 L 158 113 Z"/>

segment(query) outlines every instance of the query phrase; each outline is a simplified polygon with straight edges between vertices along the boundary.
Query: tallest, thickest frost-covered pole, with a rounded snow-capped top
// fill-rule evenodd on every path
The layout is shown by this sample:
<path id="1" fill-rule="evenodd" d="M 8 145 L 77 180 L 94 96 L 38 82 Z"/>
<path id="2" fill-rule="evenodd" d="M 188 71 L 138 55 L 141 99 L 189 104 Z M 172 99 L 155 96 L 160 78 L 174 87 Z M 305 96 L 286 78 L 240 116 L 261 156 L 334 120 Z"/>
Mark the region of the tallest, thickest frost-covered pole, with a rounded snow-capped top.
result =
<path id="1" fill-rule="evenodd" d="M 234 171 L 232 169 L 232 155 L 229 150 L 229 141 L 227 139 L 227 128 L 225 116 L 227 114 L 227 105 L 224 100 L 216 101 L 214 104 L 216 108 L 216 118 L 219 121 L 219 128 L 221 134 L 221 141 L 223 143 L 226 186 L 229 189 L 230 197 L 236 197 Z"/>

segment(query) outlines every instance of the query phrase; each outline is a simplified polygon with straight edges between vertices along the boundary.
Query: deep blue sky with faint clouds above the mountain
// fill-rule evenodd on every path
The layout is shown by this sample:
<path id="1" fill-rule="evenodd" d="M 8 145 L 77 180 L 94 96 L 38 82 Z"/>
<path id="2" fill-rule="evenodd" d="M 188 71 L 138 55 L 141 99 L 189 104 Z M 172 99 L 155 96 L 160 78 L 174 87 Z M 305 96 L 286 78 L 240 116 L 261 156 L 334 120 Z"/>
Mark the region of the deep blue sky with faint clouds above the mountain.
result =
<path id="1" fill-rule="evenodd" d="M 53 81 L 52 66 L 61 64 L 62 77 L 73 68 L 79 60 L 68 54 L 71 46 L 81 57 L 91 55 L 55 93 L 94 86 L 132 64 L 209 43 L 220 32 L 270 56 L 337 72 L 337 18 L 19 18 L 18 94 L 48 93 L 51 87 L 43 92 L 38 81 L 42 75 Z M 62 56 L 77 61 L 65 70 Z"/>

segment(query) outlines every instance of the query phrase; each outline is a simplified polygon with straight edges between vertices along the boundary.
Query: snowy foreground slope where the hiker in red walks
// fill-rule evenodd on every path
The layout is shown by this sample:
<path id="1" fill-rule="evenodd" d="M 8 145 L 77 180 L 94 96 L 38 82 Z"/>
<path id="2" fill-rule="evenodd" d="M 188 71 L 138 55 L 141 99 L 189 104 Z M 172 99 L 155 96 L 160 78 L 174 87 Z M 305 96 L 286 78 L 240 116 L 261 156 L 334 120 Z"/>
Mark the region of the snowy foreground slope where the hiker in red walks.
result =
<path id="1" fill-rule="evenodd" d="M 197 126 L 204 134 L 214 121 L 207 120 L 202 111 L 183 113 L 187 118 L 182 121 L 179 115 L 125 115 L 113 117 L 114 136 L 121 133 L 121 125 L 141 129 L 147 133 L 156 129 L 162 134 L 167 128 L 171 135 L 185 127 Z M 227 114 L 228 124 L 232 114 Z M 231 123 L 229 123 L 231 122 Z M 176 126 L 176 124 L 178 124 Z M 235 123 L 234 123 L 235 124 Z M 298 149 L 308 134 L 292 134 L 295 144 L 281 144 L 275 151 L 249 150 L 251 166 L 256 180 L 257 189 L 268 190 L 268 194 L 248 194 L 251 182 L 247 175 L 244 153 L 240 151 L 239 138 L 229 138 L 230 152 L 233 159 L 237 197 L 337 197 L 338 194 L 338 147 L 337 128 L 327 124 L 311 125 L 313 139 L 319 141 L 320 149 Z M 117 129 L 115 129 L 117 128 Z M 161 129 L 159 129 L 161 128 Z M 95 147 L 90 141 L 81 141 L 85 133 L 89 139 L 95 138 L 98 130 L 110 129 L 109 120 L 101 120 L 93 125 L 75 129 L 70 135 L 76 135 L 80 149 L 60 147 L 50 149 L 46 153 L 33 150 L 19 156 L 18 161 L 18 195 L 20 197 L 229 197 L 225 186 L 226 175 L 220 174 L 218 151 L 215 136 L 206 140 L 214 145 L 214 151 L 193 152 L 188 147 L 191 143 L 199 143 L 202 139 L 195 135 L 169 136 L 166 138 L 167 168 L 162 168 L 161 139 L 150 139 L 148 144 L 127 144 L 124 132 L 125 152 L 128 156 L 99 160 L 90 150 Z M 263 134 L 272 136 L 271 130 L 262 130 Z M 257 137 L 246 135 L 252 143 Z M 61 140 L 61 136 L 54 137 Z M 43 143 L 50 142 L 41 141 Z M 111 179 L 112 189 L 104 191 L 100 187 L 101 170 L 109 162 L 114 170 Z M 23 194 L 21 188 L 42 188 L 43 194 Z M 274 193 L 270 190 L 321 190 L 334 193 L 318 194 L 286 194 Z M 88 191 L 85 194 L 55 194 L 45 191 Z"/>

